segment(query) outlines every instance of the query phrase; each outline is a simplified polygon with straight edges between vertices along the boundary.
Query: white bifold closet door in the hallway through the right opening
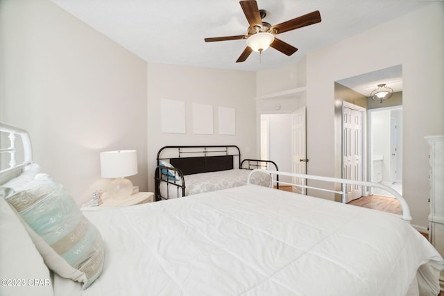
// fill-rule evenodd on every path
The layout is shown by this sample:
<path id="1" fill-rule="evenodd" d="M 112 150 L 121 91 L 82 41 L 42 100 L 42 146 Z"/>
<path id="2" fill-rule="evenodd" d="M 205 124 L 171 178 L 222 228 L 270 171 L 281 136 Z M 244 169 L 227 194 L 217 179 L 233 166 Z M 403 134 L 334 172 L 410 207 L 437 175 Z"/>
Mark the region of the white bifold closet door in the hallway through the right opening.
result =
<path id="1" fill-rule="evenodd" d="M 362 180 L 362 111 L 343 107 L 343 178 Z M 361 197 L 362 188 L 347 185 L 345 202 Z"/>

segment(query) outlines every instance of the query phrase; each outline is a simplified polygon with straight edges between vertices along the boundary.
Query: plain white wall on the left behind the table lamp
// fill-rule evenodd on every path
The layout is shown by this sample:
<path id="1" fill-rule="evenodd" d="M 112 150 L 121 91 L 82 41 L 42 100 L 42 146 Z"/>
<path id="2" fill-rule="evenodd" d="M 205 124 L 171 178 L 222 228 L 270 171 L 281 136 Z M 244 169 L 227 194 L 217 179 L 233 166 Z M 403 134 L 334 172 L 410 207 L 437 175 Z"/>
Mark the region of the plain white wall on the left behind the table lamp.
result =
<path id="1" fill-rule="evenodd" d="M 0 44 L 0 120 L 35 162 L 80 204 L 103 189 L 101 151 L 136 149 L 146 191 L 146 62 L 49 0 L 0 1 Z"/>

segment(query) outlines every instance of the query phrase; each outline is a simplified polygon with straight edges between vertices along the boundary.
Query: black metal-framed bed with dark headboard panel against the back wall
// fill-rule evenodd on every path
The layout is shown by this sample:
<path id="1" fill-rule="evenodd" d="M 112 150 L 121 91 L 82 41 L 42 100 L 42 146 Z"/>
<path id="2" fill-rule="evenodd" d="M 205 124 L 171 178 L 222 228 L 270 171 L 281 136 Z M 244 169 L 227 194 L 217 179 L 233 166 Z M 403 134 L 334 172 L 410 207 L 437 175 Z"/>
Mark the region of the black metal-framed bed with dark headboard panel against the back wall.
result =
<path id="1" fill-rule="evenodd" d="M 254 168 L 278 170 L 271 160 L 244 159 L 235 145 L 164 146 L 157 153 L 155 170 L 156 200 L 226 189 L 246 184 Z M 257 176 L 257 184 L 271 180 Z"/>

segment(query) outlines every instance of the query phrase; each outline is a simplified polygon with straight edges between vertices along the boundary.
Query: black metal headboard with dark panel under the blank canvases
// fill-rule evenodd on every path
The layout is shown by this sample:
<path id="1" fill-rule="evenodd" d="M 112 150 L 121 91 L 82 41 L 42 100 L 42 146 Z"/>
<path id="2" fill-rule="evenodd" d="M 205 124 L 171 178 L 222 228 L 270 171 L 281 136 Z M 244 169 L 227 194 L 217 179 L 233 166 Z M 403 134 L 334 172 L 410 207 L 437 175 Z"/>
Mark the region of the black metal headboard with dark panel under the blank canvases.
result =
<path id="1" fill-rule="evenodd" d="M 183 175 L 225 171 L 241 166 L 241 152 L 234 145 L 164 146 L 157 153 L 157 164 L 165 159 L 179 168 Z"/>

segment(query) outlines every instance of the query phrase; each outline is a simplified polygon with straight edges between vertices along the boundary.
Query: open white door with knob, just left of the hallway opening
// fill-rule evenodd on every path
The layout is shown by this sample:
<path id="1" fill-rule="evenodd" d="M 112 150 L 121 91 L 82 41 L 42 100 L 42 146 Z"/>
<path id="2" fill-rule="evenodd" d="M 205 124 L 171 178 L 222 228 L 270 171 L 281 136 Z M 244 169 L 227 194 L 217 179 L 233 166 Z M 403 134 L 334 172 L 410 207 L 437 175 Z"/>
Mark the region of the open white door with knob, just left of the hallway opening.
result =
<path id="1" fill-rule="evenodd" d="M 307 146 L 305 131 L 305 107 L 291 114 L 291 166 L 293 173 L 307 173 Z M 302 184 L 300 178 L 293 177 L 293 184 Z M 305 194 L 300 187 L 293 186 L 293 191 Z"/>

